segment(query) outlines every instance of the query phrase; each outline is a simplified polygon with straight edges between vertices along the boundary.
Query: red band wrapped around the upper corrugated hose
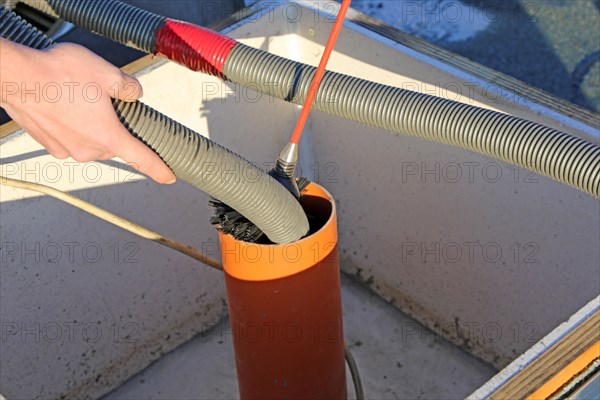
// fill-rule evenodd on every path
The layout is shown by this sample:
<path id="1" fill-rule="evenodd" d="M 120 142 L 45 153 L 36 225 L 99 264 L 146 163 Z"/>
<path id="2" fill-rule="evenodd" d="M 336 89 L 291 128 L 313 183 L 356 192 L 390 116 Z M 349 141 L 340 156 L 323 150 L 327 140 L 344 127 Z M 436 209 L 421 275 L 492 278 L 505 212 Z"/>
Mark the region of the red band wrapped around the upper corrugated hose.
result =
<path id="1" fill-rule="evenodd" d="M 224 79 L 223 64 L 237 42 L 186 22 L 167 20 L 156 32 L 156 52 L 193 71 Z"/>

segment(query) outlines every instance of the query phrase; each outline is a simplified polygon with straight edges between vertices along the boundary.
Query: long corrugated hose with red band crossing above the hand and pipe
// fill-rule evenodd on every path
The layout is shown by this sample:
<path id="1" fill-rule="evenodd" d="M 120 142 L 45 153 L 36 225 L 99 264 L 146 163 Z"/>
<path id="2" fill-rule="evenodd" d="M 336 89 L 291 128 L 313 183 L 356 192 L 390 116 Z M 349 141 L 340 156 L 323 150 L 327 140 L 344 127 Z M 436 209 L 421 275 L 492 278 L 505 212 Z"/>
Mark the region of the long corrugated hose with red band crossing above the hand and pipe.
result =
<path id="1" fill-rule="evenodd" d="M 157 34 L 183 25 L 117 0 L 35 3 L 49 5 L 61 18 L 149 53 L 157 52 Z M 214 40 L 207 40 L 206 29 L 185 25 L 197 30 L 198 35 L 189 34 L 186 40 L 194 49 L 201 48 L 203 59 L 207 47 L 222 40 L 216 33 Z M 181 48 L 181 43 L 175 45 Z M 168 54 L 188 67 L 198 64 L 197 60 L 188 62 L 189 53 L 186 58 L 178 57 L 177 51 Z M 225 59 L 222 56 L 215 58 L 218 70 L 201 70 L 296 104 L 306 99 L 316 69 L 241 43 L 235 43 Z M 314 108 L 494 157 L 600 198 L 600 146 L 532 121 L 334 72 L 325 74 Z"/>

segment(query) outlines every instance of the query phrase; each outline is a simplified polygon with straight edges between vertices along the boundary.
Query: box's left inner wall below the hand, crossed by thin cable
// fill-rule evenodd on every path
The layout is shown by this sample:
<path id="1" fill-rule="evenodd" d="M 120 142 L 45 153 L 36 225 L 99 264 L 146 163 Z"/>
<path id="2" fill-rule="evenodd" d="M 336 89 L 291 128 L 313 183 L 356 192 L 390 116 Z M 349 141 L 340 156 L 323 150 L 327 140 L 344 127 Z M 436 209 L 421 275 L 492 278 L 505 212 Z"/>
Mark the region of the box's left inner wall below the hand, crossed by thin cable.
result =
<path id="1" fill-rule="evenodd" d="M 73 195 L 186 243 L 209 243 L 208 197 L 122 164 L 55 161 L 29 135 L 4 176 Z M 0 190 L 0 392 L 97 398 L 222 318 L 220 273 L 48 196 Z"/>

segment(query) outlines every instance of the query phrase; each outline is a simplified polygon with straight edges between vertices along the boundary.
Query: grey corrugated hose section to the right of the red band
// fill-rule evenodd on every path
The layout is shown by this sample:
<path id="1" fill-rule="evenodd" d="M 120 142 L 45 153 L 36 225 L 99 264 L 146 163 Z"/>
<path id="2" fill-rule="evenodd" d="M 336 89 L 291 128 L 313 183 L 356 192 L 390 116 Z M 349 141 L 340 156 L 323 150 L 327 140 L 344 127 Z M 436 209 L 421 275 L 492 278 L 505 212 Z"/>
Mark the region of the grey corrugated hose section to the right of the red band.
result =
<path id="1" fill-rule="evenodd" d="M 306 99 L 315 71 L 241 43 L 223 66 L 232 82 L 296 104 Z M 494 157 L 600 197 L 600 146 L 535 122 L 330 71 L 313 107 Z"/>

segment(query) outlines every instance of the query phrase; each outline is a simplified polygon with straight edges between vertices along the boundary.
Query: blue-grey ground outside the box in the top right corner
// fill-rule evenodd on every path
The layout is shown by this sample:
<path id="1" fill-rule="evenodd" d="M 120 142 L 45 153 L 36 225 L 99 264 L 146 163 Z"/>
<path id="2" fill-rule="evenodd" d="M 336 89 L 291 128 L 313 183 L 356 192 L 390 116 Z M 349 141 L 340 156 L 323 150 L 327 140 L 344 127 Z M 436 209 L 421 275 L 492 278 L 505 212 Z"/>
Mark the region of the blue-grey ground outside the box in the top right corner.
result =
<path id="1" fill-rule="evenodd" d="M 353 0 L 352 7 L 600 112 L 598 0 Z"/>

